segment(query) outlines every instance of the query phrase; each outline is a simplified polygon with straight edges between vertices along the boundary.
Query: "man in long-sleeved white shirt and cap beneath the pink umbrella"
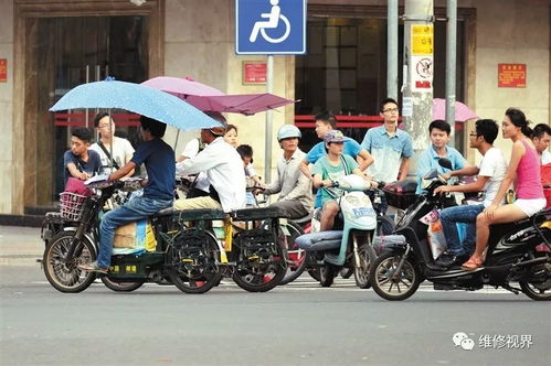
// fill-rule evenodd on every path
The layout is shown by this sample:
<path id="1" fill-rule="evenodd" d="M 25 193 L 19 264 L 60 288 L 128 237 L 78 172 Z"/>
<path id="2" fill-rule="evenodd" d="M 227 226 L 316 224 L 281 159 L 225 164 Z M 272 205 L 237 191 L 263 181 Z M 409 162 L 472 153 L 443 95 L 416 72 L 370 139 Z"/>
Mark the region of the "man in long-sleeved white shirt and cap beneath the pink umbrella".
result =
<path id="1" fill-rule="evenodd" d="M 221 114 L 212 118 L 225 126 Z M 201 141 L 206 144 L 195 157 L 176 164 L 178 175 L 197 174 L 204 171 L 211 184 L 209 196 L 174 201 L 177 209 L 222 208 L 231 212 L 245 207 L 245 172 L 235 149 L 224 141 L 224 127 L 201 130 Z"/>

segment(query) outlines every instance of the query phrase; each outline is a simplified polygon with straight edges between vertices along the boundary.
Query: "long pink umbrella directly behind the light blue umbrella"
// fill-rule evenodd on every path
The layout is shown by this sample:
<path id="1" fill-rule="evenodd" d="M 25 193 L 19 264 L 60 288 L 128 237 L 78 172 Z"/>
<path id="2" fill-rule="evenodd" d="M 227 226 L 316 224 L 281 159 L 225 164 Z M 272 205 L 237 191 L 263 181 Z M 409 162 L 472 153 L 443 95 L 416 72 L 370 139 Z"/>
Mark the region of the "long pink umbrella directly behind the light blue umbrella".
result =
<path id="1" fill-rule="evenodd" d="M 250 116 L 295 103 L 295 100 L 282 98 L 269 93 L 226 95 L 219 89 L 194 82 L 190 77 L 182 79 L 160 76 L 141 84 L 176 95 L 203 111 L 233 112 Z"/>

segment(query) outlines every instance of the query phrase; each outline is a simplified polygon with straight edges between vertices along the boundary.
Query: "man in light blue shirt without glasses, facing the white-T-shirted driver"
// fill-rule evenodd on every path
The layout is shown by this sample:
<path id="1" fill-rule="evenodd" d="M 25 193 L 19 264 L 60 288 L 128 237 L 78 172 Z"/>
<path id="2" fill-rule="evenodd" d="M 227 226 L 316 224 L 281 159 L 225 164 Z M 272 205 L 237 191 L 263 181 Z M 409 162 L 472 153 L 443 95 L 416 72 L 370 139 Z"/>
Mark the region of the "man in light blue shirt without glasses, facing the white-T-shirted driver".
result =
<path id="1" fill-rule="evenodd" d="M 460 170 L 465 166 L 466 161 L 460 152 L 447 146 L 449 133 L 452 133 L 452 128 L 446 121 L 437 119 L 428 125 L 428 134 L 432 143 L 428 149 L 423 151 L 418 157 L 416 194 L 423 193 L 423 176 L 431 170 L 436 169 L 438 173 L 444 174 L 454 170 Z M 449 159 L 452 169 L 439 165 L 439 158 Z"/>

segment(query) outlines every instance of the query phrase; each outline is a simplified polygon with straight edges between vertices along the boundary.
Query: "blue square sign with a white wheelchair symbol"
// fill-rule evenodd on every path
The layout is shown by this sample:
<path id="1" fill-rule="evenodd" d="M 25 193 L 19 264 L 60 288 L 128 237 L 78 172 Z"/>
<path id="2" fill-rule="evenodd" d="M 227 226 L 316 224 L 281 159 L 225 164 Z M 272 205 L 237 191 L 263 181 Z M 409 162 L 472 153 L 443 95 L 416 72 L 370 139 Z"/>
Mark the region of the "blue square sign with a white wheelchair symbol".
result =
<path id="1" fill-rule="evenodd" d="M 235 52 L 306 53 L 306 0 L 235 0 Z"/>

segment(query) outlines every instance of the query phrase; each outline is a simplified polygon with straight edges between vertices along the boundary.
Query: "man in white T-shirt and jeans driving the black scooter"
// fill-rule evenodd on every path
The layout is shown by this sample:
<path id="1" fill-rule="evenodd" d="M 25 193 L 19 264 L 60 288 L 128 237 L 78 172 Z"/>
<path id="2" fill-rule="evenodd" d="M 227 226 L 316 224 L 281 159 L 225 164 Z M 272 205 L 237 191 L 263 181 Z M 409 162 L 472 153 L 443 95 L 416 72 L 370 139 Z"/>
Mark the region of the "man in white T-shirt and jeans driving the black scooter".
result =
<path id="1" fill-rule="evenodd" d="M 485 192 L 483 204 L 448 207 L 441 212 L 441 222 L 444 236 L 446 237 L 447 249 L 436 258 L 436 265 L 443 267 L 462 265 L 469 258 L 474 250 L 476 243 L 476 216 L 491 204 L 507 172 L 507 161 L 504 153 L 492 146 L 498 130 L 498 125 L 492 119 L 477 120 L 475 130 L 469 133 L 469 147 L 477 149 L 483 154 L 483 160 L 478 166 L 465 166 L 460 170 L 443 174 L 448 179 L 453 175 L 478 174 L 475 182 L 465 185 L 442 185 L 434 191 L 435 194 L 443 192 Z M 459 243 L 457 223 L 467 224 L 463 244 Z"/>

